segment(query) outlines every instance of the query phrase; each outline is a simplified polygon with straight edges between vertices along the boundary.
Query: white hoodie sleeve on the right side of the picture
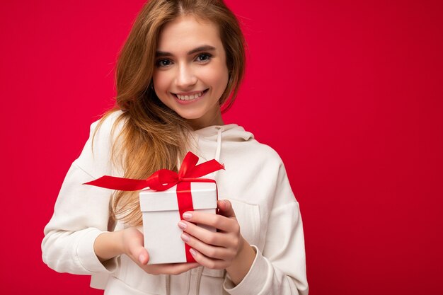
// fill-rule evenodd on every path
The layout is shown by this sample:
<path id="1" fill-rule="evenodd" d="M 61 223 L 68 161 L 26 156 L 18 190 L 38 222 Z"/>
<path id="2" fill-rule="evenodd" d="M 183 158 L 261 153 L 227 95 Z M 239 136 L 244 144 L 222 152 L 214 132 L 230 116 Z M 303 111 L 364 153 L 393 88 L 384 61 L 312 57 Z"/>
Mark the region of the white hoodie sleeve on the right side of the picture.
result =
<path id="1" fill-rule="evenodd" d="M 248 274 L 234 285 L 229 277 L 224 289 L 231 295 L 307 295 L 303 223 L 284 167 L 280 167 L 275 206 L 267 220 L 263 252 L 257 253 Z"/>

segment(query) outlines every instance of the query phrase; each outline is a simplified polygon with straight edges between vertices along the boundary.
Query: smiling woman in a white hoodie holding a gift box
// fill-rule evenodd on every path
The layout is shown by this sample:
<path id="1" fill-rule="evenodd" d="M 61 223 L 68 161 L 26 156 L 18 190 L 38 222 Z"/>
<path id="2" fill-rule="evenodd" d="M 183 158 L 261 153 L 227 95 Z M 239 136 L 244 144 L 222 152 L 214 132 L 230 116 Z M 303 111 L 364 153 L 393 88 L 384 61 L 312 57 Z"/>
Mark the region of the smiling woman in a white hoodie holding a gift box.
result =
<path id="1" fill-rule="evenodd" d="M 117 64 L 117 106 L 91 126 L 45 227 L 47 265 L 92 274 L 105 294 L 307 294 L 299 206 L 282 161 L 222 120 L 243 78 L 243 44 L 222 1 L 144 6 Z M 188 150 L 224 163 L 216 179 L 225 200 L 218 215 L 186 212 L 178 223 L 197 263 L 148 265 L 137 192 L 81 184 L 177 170 Z"/>

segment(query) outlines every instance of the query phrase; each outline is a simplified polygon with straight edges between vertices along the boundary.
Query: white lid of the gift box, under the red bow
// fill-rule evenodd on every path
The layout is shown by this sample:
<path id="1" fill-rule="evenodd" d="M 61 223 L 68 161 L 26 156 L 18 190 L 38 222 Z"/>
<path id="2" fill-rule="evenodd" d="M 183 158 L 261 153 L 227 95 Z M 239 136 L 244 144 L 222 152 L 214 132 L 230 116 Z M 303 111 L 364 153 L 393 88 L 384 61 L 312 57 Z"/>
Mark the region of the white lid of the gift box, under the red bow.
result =
<path id="1" fill-rule="evenodd" d="M 217 186 L 215 183 L 191 183 L 194 209 L 217 208 Z M 142 190 L 139 193 L 142 212 L 178 210 L 177 186 L 158 192 Z"/>

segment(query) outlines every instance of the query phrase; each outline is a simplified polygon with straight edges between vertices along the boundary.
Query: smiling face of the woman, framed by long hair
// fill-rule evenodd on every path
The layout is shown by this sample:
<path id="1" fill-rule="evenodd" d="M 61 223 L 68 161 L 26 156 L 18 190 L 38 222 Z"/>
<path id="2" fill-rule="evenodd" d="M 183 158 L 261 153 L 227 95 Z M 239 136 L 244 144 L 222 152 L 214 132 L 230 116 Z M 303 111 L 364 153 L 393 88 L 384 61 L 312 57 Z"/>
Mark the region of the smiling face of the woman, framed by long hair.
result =
<path id="1" fill-rule="evenodd" d="M 153 76 L 156 95 L 195 129 L 223 125 L 219 98 L 228 73 L 214 23 L 180 16 L 161 30 Z"/>

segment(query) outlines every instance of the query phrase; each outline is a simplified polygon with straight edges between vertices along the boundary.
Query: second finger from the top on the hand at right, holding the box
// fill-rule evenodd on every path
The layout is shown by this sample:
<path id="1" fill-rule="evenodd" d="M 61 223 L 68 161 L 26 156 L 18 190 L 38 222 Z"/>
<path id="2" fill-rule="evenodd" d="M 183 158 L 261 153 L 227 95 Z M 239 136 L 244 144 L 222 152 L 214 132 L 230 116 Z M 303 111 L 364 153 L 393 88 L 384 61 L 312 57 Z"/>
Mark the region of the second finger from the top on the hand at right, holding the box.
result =
<path id="1" fill-rule="evenodd" d="M 234 241 L 232 241 L 233 238 L 231 236 L 227 236 L 226 233 L 208 231 L 207 229 L 203 229 L 200 226 L 183 220 L 178 223 L 178 226 L 185 233 L 189 233 L 190 236 L 193 236 L 209 245 L 216 245 L 225 248 L 234 246 Z"/>

